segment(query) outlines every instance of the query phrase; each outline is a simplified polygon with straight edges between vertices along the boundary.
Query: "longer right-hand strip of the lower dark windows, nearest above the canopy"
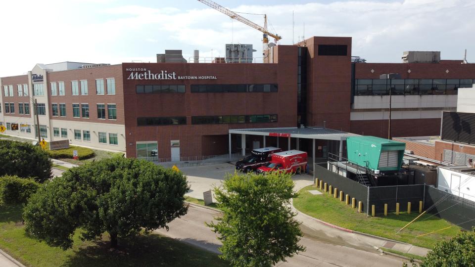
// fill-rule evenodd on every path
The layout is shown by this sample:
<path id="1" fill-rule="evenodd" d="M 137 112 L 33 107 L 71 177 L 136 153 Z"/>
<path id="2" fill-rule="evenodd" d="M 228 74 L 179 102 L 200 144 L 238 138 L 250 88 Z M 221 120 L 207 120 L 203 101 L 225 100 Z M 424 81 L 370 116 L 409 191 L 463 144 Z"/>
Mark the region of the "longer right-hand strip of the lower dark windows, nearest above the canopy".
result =
<path id="1" fill-rule="evenodd" d="M 273 123 L 277 115 L 192 116 L 191 124 Z"/>

